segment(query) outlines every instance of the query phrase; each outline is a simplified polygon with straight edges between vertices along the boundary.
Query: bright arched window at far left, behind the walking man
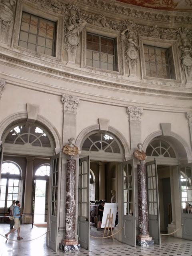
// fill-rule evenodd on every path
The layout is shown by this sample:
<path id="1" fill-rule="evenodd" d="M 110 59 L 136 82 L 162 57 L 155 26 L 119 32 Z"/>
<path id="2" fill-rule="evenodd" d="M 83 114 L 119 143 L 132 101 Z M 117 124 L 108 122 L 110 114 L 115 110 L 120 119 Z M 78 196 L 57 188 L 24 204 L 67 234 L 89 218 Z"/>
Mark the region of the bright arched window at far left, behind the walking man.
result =
<path id="1" fill-rule="evenodd" d="M 0 183 L 0 208 L 8 208 L 13 200 L 18 200 L 21 169 L 14 162 L 3 162 Z"/>

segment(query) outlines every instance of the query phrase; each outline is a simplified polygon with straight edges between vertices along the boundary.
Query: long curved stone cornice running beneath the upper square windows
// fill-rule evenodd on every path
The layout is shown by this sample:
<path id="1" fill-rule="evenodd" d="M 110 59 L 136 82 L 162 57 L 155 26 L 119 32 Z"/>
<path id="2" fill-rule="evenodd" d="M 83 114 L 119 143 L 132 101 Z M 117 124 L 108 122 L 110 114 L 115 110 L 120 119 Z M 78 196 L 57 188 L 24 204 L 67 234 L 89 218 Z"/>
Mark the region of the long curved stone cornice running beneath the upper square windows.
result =
<path id="1" fill-rule="evenodd" d="M 0 49 L 1 50 L 1 49 Z M 155 88 L 154 84 L 150 84 L 151 81 L 142 82 L 140 80 L 130 80 L 129 78 L 118 75 L 108 76 L 106 77 L 106 72 L 93 72 L 89 69 L 71 69 L 66 66 L 63 66 L 61 64 L 53 64 L 53 63 L 47 63 L 49 67 L 45 66 L 46 61 L 44 61 L 44 66 L 40 66 L 38 64 L 32 64 L 31 62 L 28 62 L 27 60 L 18 60 L 16 58 L 13 58 L 11 56 L 5 56 L 1 54 L 0 60 L 4 62 L 4 65 L 11 66 L 14 68 L 18 68 L 20 70 L 26 70 L 28 72 L 36 74 L 41 73 L 42 75 L 45 75 L 46 77 L 50 78 L 56 78 L 63 80 L 64 78 L 70 82 L 74 83 L 80 83 L 87 86 L 101 86 L 105 88 L 110 88 L 110 90 L 126 90 L 126 92 L 137 92 L 137 93 L 148 93 L 148 95 L 159 95 L 162 97 L 177 97 L 178 99 L 181 97 L 185 97 L 184 99 L 191 100 L 192 92 L 190 88 L 181 87 L 182 84 L 179 83 L 171 83 L 170 86 L 167 86 L 168 82 L 156 82 Z M 52 65 L 52 66 L 51 66 Z M 62 71 L 61 71 L 62 70 Z M 63 71 L 64 70 L 64 71 Z M 92 71 L 92 72 L 90 72 Z M 74 74 L 74 72 L 76 74 Z M 173 89 L 174 88 L 174 89 Z M 189 98 L 188 98 L 189 97 Z"/>

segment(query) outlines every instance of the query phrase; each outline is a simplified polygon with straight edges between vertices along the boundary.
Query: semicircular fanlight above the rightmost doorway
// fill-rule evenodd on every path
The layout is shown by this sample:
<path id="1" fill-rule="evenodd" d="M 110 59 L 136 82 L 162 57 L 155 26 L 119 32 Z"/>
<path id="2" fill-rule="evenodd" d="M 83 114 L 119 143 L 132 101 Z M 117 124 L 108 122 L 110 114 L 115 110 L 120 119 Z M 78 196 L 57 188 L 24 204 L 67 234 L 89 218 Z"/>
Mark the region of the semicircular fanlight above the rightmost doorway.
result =
<path id="1" fill-rule="evenodd" d="M 146 155 L 156 156 L 156 157 L 160 156 L 160 157 L 176 158 L 176 154 L 172 146 L 170 146 L 168 142 L 164 140 L 159 140 L 159 139 L 153 140 L 152 142 L 150 142 L 150 144 L 146 149 Z"/>

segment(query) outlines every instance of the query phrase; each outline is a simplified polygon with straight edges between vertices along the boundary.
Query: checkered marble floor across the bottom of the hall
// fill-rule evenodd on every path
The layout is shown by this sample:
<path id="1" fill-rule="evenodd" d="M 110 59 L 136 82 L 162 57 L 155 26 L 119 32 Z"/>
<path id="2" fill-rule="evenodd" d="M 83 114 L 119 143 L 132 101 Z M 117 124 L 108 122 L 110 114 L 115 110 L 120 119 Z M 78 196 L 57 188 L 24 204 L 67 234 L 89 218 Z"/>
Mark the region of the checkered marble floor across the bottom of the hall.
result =
<path id="1" fill-rule="evenodd" d="M 54 252 L 46 246 L 45 233 L 47 230 L 44 227 L 34 226 L 31 228 L 30 224 L 22 224 L 20 236 L 23 237 L 23 240 L 21 242 L 16 240 L 16 231 L 10 234 L 9 239 L 6 240 L 4 234 L 8 231 L 9 224 L 0 224 L 0 256 L 61 256 L 64 254 L 69 256 L 192 256 L 192 241 L 172 236 L 162 236 L 161 246 L 151 247 L 132 247 L 116 240 L 113 241 L 111 238 L 90 238 L 89 251 L 81 248 L 76 252 L 60 250 Z M 103 231 L 97 231 L 94 227 L 91 227 L 90 231 L 93 236 L 102 237 Z M 27 242 L 28 240 L 31 241 Z"/>

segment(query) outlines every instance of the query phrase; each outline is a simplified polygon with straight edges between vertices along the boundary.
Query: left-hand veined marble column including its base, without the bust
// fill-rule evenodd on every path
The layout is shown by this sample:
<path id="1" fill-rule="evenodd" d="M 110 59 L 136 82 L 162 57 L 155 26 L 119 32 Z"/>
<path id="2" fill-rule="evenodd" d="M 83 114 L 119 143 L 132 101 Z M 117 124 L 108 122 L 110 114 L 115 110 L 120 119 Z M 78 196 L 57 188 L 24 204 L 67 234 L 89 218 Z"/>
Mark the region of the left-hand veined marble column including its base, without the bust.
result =
<path id="1" fill-rule="evenodd" d="M 62 251 L 80 250 L 80 244 L 75 239 L 75 177 L 76 160 L 67 160 L 66 175 L 66 218 L 65 218 L 65 239 L 59 244 Z"/>

